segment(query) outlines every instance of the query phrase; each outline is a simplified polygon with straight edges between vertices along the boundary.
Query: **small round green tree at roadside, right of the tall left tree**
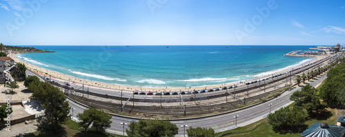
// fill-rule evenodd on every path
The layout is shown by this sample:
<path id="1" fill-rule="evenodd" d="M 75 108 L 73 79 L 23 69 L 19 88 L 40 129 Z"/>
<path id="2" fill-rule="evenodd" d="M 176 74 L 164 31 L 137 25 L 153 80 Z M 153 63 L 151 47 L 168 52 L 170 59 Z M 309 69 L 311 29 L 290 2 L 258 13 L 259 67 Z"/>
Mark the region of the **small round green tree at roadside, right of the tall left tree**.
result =
<path id="1" fill-rule="evenodd" d="M 92 123 L 92 128 L 97 131 L 105 131 L 112 123 L 110 115 L 95 108 L 86 109 L 83 113 L 78 114 L 77 117 L 80 120 L 79 125 L 81 125 L 85 131 L 87 131 Z"/>

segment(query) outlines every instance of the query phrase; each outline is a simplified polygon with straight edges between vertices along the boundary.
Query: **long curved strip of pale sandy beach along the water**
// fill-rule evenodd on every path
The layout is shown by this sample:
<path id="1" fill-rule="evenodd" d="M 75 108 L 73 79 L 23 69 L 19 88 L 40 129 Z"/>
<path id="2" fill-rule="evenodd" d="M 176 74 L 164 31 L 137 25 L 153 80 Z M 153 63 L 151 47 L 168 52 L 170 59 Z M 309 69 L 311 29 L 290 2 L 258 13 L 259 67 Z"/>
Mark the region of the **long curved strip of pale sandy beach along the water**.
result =
<path id="1" fill-rule="evenodd" d="M 21 53 L 16 53 L 16 54 L 21 54 Z M 62 74 L 60 72 L 55 72 L 53 70 L 48 70 L 42 67 L 38 67 L 36 65 L 32 65 L 32 63 L 28 63 L 27 61 L 23 61 L 21 59 L 18 59 L 14 53 L 9 54 L 8 56 L 10 56 L 12 59 L 14 59 L 15 62 L 17 63 L 24 63 L 26 65 L 26 67 L 34 72 L 37 72 L 39 74 L 41 74 L 42 76 L 47 75 L 51 76 L 52 78 L 57 78 L 60 79 L 61 81 L 68 81 L 72 84 L 75 83 L 79 83 L 79 84 L 84 84 L 84 85 L 88 85 L 88 86 L 92 86 L 92 87 L 103 87 L 103 88 L 110 88 L 110 89 L 124 89 L 124 90 L 129 90 L 129 91 L 142 91 L 142 92 L 179 92 L 181 91 L 191 91 L 193 89 L 195 90 L 201 90 L 201 89 L 215 89 L 215 88 L 221 88 L 221 87 L 228 87 L 230 85 L 245 85 L 246 81 L 253 81 L 255 79 L 261 79 L 261 78 L 266 78 L 272 74 L 279 74 L 279 73 L 283 73 L 283 72 L 288 72 L 288 70 L 290 70 L 290 68 L 288 68 L 287 70 L 282 70 L 284 68 L 280 68 L 277 70 L 281 70 L 279 72 L 274 72 L 275 70 L 271 70 L 269 72 L 267 72 L 267 75 L 264 76 L 258 76 L 258 77 L 254 77 L 254 78 L 248 78 L 245 79 L 243 81 L 234 81 L 234 82 L 230 82 L 230 83 L 219 83 L 216 85 L 199 85 L 199 86 L 193 86 L 193 87 L 167 87 L 167 86 L 162 86 L 162 87 L 145 87 L 145 86 L 137 86 L 137 85 L 121 85 L 121 84 L 116 84 L 116 83 L 104 83 L 104 82 L 100 82 L 100 81 L 92 81 L 92 80 L 88 80 L 88 79 L 83 79 L 83 78 L 78 78 L 76 76 L 70 76 L 68 74 Z M 312 61 L 309 61 L 309 63 L 312 63 L 314 61 L 317 61 L 319 59 L 324 58 L 325 56 L 313 56 L 315 57 L 315 59 L 313 59 Z M 295 64 L 297 65 L 297 64 Z M 272 73 L 270 73 L 272 72 Z"/>

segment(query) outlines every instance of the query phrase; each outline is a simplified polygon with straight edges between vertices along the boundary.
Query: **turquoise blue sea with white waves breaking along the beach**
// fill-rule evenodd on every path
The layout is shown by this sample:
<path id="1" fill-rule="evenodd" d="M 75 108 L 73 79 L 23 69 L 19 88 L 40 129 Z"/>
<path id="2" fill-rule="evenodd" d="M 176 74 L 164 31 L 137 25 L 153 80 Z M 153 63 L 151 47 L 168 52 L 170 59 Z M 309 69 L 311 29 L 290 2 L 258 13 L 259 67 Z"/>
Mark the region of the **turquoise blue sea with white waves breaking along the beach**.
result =
<path id="1" fill-rule="evenodd" d="M 313 60 L 284 56 L 293 50 L 313 48 L 297 45 L 33 47 L 56 52 L 17 54 L 17 57 L 70 76 L 143 87 L 190 87 L 243 81 Z"/>

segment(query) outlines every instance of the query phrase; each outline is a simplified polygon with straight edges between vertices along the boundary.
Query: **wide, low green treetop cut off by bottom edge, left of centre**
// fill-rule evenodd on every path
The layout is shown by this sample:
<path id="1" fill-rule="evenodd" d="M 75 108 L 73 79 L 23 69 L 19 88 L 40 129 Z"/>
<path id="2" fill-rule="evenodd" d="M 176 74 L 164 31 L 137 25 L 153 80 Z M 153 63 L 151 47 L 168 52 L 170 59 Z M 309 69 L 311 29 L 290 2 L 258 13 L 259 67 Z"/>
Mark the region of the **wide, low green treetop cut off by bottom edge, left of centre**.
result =
<path id="1" fill-rule="evenodd" d="M 138 123 L 131 122 L 126 129 L 126 133 L 131 137 L 150 137 L 150 136 L 175 136 L 178 127 L 168 120 L 139 120 Z"/>

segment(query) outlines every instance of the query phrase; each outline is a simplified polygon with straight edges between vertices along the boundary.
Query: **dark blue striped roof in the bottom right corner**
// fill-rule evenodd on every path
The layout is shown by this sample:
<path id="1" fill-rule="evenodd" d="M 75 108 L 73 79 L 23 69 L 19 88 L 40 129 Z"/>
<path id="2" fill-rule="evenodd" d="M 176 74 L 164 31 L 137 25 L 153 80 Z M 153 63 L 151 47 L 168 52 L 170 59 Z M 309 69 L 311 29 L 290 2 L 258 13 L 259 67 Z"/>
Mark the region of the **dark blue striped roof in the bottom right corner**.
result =
<path id="1" fill-rule="evenodd" d="M 324 123 L 326 124 L 326 123 Z M 301 136 L 315 136 L 315 137 L 340 137 L 344 136 L 345 133 L 345 127 L 340 127 L 337 125 L 324 125 L 322 123 L 314 123 L 302 132 Z M 322 125 L 322 126 L 320 126 Z"/>

